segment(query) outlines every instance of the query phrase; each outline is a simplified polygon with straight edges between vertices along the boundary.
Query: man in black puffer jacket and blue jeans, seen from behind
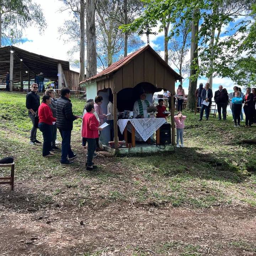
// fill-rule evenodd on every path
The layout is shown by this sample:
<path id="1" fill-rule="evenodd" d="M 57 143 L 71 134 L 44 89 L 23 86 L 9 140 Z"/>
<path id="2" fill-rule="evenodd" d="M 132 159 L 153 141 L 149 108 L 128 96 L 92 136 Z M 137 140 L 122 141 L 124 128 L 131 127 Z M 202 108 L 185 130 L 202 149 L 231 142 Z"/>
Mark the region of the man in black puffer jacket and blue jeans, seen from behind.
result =
<path id="1" fill-rule="evenodd" d="M 71 150 L 71 130 L 73 130 L 73 121 L 78 118 L 72 112 L 72 103 L 69 100 L 70 90 L 62 88 L 60 91 L 60 98 L 57 100 L 56 113 L 57 113 L 57 128 L 62 137 L 62 156 L 60 162 L 62 164 L 73 164 L 76 154 Z M 67 159 L 68 157 L 68 159 Z"/>

